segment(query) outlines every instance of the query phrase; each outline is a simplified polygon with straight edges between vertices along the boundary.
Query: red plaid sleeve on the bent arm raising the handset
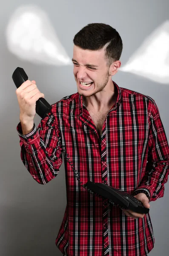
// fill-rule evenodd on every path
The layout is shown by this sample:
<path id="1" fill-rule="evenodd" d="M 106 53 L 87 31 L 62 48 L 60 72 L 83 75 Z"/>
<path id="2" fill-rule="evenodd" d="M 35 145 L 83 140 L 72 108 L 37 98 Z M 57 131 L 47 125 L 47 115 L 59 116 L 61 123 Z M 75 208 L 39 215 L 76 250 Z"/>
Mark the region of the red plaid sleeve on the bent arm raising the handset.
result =
<path id="1" fill-rule="evenodd" d="M 62 164 L 63 150 L 54 115 L 49 112 L 38 127 L 34 124 L 33 131 L 26 135 L 22 134 L 19 122 L 17 132 L 24 166 L 38 183 L 48 183 L 57 176 Z"/>

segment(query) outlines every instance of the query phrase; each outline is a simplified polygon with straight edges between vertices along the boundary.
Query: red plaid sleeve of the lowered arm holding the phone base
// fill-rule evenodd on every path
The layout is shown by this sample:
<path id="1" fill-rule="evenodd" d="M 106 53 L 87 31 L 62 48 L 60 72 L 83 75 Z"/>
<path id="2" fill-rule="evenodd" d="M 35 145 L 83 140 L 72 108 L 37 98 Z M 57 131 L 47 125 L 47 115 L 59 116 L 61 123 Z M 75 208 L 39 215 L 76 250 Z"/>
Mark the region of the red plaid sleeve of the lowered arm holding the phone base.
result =
<path id="1" fill-rule="evenodd" d="M 163 197 L 169 175 L 169 145 L 157 105 L 152 105 L 149 119 L 148 158 L 145 175 L 132 195 L 145 193 L 149 201 Z"/>

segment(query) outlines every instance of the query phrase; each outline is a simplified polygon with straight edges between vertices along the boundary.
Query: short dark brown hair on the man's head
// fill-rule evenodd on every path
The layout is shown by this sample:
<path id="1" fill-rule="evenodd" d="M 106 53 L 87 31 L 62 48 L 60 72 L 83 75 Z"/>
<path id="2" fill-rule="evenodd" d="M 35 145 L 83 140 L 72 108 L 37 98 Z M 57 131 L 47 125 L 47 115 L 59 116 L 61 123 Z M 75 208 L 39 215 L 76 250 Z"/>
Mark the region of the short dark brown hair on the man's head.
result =
<path id="1" fill-rule="evenodd" d="M 83 27 L 73 39 L 74 45 L 82 49 L 99 50 L 107 43 L 105 59 L 110 66 L 118 61 L 123 49 L 123 43 L 116 29 L 104 23 L 90 23 Z"/>

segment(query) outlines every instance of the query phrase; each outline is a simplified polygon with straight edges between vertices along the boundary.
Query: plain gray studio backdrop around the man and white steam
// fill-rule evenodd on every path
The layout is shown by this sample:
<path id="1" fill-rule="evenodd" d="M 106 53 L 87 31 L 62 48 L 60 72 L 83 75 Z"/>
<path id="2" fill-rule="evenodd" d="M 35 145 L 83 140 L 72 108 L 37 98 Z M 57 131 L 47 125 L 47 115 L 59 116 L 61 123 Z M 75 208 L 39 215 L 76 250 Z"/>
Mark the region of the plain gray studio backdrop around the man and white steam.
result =
<path id="1" fill-rule="evenodd" d="M 35 3 L 43 9 L 66 49 L 73 56 L 73 37 L 88 23 L 102 22 L 115 27 L 123 40 L 122 65 L 144 39 L 169 19 L 168 0 L 6 0 L 0 9 L 0 256 L 60 256 L 55 238 L 66 207 L 64 164 L 57 178 L 41 186 L 20 159 L 19 105 L 11 75 L 23 67 L 30 80 L 36 80 L 45 99 L 53 104 L 77 92 L 73 66 L 54 67 L 20 61 L 6 46 L 6 25 L 17 7 Z M 157 65 L 160 63 L 157 62 Z M 151 96 L 158 105 L 169 140 L 169 84 L 160 84 L 131 73 L 119 71 L 112 79 L 120 86 Z M 40 117 L 35 116 L 36 126 Z M 155 247 L 150 256 L 168 255 L 169 183 L 163 198 L 151 202 L 150 215 Z"/>

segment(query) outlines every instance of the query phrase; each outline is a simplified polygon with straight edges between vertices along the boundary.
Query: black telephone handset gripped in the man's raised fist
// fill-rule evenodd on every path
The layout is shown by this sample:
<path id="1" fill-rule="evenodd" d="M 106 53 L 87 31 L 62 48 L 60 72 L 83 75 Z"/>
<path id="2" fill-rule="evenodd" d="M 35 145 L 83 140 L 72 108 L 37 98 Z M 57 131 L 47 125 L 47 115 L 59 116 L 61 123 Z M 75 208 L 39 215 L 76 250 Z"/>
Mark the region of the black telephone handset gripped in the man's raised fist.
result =
<path id="1" fill-rule="evenodd" d="M 20 87 L 25 81 L 28 80 L 28 76 L 26 75 L 25 71 L 22 67 L 17 67 L 14 70 L 12 75 L 12 79 L 16 87 Z M 36 113 L 41 117 L 44 118 L 46 114 L 52 109 L 52 106 L 46 101 L 44 98 L 39 98 L 36 102 Z"/>

